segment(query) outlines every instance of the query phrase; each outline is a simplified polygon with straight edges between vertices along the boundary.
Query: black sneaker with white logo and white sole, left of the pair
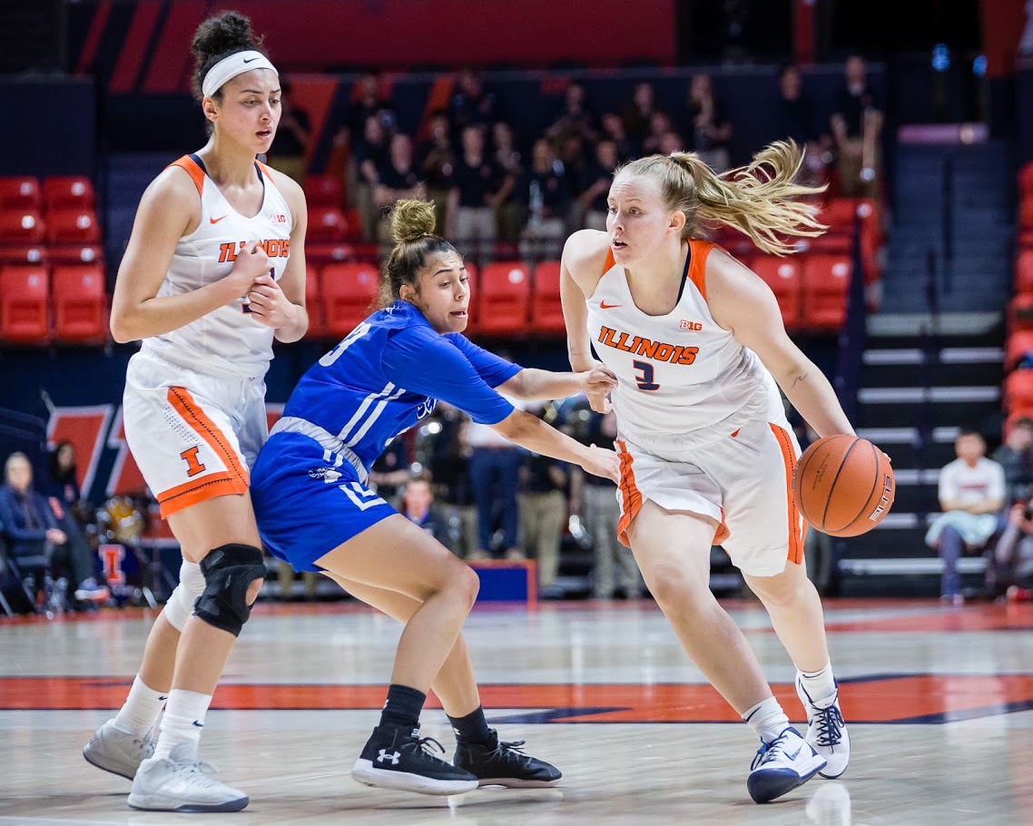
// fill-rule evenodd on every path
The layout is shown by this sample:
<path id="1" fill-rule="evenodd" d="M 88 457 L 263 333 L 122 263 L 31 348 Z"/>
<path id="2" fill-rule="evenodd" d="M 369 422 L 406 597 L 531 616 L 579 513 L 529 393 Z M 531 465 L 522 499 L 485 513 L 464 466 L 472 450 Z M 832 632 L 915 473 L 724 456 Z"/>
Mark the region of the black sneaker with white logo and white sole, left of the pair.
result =
<path id="1" fill-rule="evenodd" d="M 433 737 L 420 738 L 419 729 L 377 726 L 351 776 L 367 786 L 420 794 L 460 794 L 477 788 L 477 779 L 469 771 L 432 755 L 431 743 L 444 754 Z"/>

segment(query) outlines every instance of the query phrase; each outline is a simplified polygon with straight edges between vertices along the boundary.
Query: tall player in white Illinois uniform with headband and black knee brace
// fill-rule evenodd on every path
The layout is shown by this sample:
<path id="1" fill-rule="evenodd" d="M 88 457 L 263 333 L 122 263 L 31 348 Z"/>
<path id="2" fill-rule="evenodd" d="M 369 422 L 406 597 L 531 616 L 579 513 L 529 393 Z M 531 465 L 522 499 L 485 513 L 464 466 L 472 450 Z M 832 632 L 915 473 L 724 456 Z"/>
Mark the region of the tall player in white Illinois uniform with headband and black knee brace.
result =
<path id="1" fill-rule="evenodd" d="M 255 160 L 280 118 L 278 73 L 260 49 L 236 12 L 197 29 L 194 85 L 211 136 L 144 193 L 112 304 L 116 341 L 143 340 L 126 374 L 126 438 L 184 558 L 125 705 L 83 752 L 132 779 L 134 808 L 248 803 L 202 770 L 197 742 L 265 575 L 248 468 L 267 437 L 273 339 L 308 328 L 305 196 Z"/>

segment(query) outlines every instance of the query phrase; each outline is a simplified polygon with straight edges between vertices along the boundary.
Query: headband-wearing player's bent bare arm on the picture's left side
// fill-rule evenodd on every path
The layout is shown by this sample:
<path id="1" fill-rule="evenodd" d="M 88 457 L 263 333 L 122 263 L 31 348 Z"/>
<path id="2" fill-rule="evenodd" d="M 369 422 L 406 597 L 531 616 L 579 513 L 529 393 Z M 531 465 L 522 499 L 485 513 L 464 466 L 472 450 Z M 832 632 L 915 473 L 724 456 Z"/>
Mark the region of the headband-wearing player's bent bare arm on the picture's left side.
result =
<path id="1" fill-rule="evenodd" d="M 171 167 L 147 188 L 112 296 L 111 328 L 120 344 L 186 326 L 223 305 L 243 298 L 269 272 L 265 251 L 253 242 L 225 278 L 191 292 L 158 296 L 176 245 L 200 221 L 197 189 L 187 172 Z"/>

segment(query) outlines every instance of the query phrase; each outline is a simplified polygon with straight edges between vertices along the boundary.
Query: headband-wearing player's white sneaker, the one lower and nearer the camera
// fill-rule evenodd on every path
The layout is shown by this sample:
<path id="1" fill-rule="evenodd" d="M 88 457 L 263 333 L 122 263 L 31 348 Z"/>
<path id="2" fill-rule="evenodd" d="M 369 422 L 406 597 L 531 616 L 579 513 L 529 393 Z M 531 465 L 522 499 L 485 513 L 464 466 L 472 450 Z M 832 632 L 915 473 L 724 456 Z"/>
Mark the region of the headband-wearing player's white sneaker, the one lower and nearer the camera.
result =
<path id="1" fill-rule="evenodd" d="M 140 764 L 129 805 L 156 812 L 240 812 L 248 796 L 217 781 L 214 771 L 197 760 L 190 743 L 180 743 L 168 757 L 152 757 Z"/>

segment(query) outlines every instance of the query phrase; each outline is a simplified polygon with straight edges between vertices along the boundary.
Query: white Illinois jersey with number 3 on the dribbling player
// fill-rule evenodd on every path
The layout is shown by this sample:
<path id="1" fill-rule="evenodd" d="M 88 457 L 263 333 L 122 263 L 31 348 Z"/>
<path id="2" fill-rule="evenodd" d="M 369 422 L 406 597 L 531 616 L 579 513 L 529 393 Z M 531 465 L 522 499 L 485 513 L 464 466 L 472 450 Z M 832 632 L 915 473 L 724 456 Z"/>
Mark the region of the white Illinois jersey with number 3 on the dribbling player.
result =
<path id="1" fill-rule="evenodd" d="M 643 447 L 703 443 L 751 419 L 784 415 L 760 359 L 711 316 L 705 272 L 715 246 L 689 241 L 682 294 L 665 316 L 635 307 L 613 253 L 588 299 L 592 344 L 619 381 L 611 394 L 618 427 Z"/>

